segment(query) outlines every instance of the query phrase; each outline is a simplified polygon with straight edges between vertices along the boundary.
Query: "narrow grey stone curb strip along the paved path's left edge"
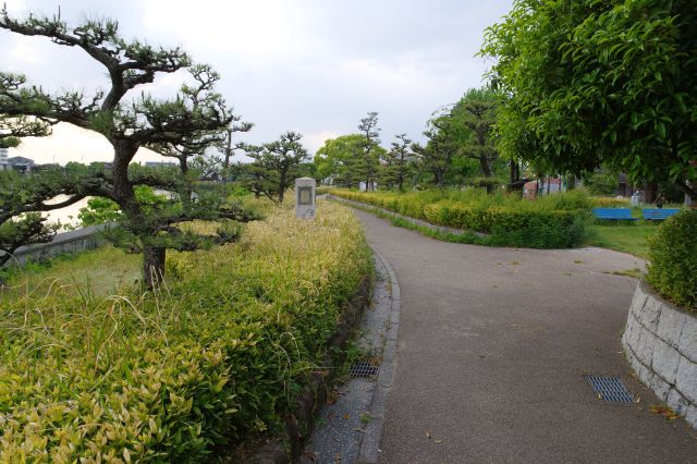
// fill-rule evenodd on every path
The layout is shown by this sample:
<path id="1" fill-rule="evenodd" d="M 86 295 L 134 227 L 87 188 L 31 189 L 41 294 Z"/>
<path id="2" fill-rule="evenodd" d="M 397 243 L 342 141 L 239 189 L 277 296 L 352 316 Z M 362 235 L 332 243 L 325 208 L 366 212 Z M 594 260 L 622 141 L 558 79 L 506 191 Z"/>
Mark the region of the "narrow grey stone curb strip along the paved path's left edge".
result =
<path id="1" fill-rule="evenodd" d="M 400 284 L 396 280 L 394 269 L 388 262 L 387 259 L 380 254 L 377 248 L 372 248 L 375 256 L 382 262 L 382 266 L 387 270 L 388 278 L 391 285 L 391 308 L 390 308 L 390 321 L 389 330 L 387 333 L 387 340 L 384 342 L 384 349 L 382 350 L 382 363 L 380 364 L 380 370 L 378 371 L 378 378 L 376 379 L 376 389 L 372 393 L 372 401 L 370 403 L 369 417 L 370 422 L 365 428 L 363 441 L 360 442 L 360 450 L 358 452 L 359 464 L 374 464 L 378 462 L 380 454 L 380 440 L 382 438 L 382 427 L 384 425 L 384 414 L 387 411 L 387 398 L 392 389 L 392 382 L 394 379 L 394 364 L 396 357 L 396 342 L 398 332 L 400 329 L 400 309 L 401 309 L 401 296 Z"/>

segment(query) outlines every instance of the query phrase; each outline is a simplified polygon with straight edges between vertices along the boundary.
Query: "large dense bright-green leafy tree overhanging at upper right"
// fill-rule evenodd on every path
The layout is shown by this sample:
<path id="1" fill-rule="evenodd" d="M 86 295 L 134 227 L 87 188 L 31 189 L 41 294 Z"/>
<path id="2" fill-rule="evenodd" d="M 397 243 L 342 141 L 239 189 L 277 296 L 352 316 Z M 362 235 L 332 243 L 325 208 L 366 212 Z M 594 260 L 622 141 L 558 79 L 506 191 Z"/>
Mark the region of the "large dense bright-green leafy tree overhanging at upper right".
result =
<path id="1" fill-rule="evenodd" d="M 697 198 L 695 24 L 693 0 L 515 1 L 481 49 L 506 96 L 500 149 L 562 172 L 670 179 Z"/>

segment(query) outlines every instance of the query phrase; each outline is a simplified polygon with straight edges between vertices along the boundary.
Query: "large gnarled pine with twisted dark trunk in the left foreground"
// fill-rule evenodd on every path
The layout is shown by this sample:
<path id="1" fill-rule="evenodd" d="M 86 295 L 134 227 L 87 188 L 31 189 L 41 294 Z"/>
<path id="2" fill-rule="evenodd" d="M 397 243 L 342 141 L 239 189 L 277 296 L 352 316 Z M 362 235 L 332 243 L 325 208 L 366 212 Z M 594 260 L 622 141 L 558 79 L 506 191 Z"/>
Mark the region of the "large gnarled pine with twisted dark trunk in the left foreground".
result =
<path id="1" fill-rule="evenodd" d="M 103 66 L 107 90 L 98 89 L 91 95 L 82 90 L 49 94 L 40 86 L 27 85 L 23 75 L 0 73 L 0 114 L 66 122 L 107 138 L 113 147 L 111 168 L 93 174 L 95 182 L 89 183 L 86 193 L 119 205 L 124 233 L 119 243 L 127 243 L 130 249 L 143 253 L 144 282 L 148 288 L 163 277 L 167 248 L 195 249 L 235 239 L 235 234 L 222 231 L 216 239 L 196 236 L 179 224 L 197 219 L 246 220 L 243 211 L 224 209 L 221 200 L 210 199 L 197 202 L 196 208 L 186 208 L 180 203 L 148 210 L 136 198 L 136 185 L 178 191 L 181 179 L 130 167 L 140 147 L 180 145 L 192 134 L 218 132 L 232 122 L 224 100 L 212 89 L 219 78 L 212 70 L 191 68 L 195 84 L 184 85 L 172 99 L 157 100 L 142 93 L 127 100 L 125 96 L 130 90 L 152 83 L 156 75 L 188 68 L 188 56 L 179 48 L 156 48 L 138 40 L 125 40 L 119 34 L 118 23 L 111 20 L 87 20 L 69 27 L 59 16 L 29 15 L 17 20 L 3 9 L 0 28 L 82 49 Z"/>

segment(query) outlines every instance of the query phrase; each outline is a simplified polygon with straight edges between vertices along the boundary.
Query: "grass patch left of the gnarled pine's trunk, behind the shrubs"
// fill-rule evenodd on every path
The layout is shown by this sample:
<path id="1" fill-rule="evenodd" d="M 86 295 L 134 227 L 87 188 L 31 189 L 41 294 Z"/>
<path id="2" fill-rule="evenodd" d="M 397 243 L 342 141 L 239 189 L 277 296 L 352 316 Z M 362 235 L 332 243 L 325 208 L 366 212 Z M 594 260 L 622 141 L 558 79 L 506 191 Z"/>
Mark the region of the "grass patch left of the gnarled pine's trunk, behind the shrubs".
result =
<path id="1" fill-rule="evenodd" d="M 28 293 L 46 293 L 51 286 L 68 292 L 107 296 L 119 293 L 140 277 L 140 255 L 130 255 L 106 245 L 97 249 L 62 255 L 42 264 L 7 271 L 7 288 L 0 303 Z"/>

